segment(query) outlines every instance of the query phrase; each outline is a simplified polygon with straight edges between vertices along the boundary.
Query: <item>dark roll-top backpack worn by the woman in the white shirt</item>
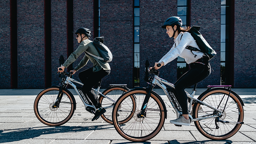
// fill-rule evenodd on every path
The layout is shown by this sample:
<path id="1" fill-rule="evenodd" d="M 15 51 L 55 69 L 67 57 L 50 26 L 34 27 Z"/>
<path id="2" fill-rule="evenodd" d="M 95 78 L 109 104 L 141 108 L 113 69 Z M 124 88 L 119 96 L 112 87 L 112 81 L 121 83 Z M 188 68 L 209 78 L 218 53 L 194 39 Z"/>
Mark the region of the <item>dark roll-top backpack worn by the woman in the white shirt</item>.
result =
<path id="1" fill-rule="evenodd" d="M 199 26 L 193 26 L 192 28 L 189 29 L 189 33 L 193 38 L 196 40 L 196 44 L 200 48 L 197 49 L 192 46 L 186 46 L 186 49 L 189 49 L 191 52 L 192 51 L 199 51 L 203 52 L 205 55 L 208 56 L 209 60 L 211 60 L 217 53 L 212 49 L 212 47 L 207 43 L 207 41 L 204 39 L 204 37 L 201 35 L 201 33 L 198 31 L 200 29 Z M 183 35 L 182 35 L 183 36 Z M 182 37 L 181 36 L 181 37 Z M 181 39 L 181 38 L 180 38 Z M 193 52 L 192 52 L 193 53 Z M 194 54 L 194 53 L 193 53 Z M 195 54 L 194 54 L 195 55 Z M 196 57 L 197 55 L 195 55 Z"/>

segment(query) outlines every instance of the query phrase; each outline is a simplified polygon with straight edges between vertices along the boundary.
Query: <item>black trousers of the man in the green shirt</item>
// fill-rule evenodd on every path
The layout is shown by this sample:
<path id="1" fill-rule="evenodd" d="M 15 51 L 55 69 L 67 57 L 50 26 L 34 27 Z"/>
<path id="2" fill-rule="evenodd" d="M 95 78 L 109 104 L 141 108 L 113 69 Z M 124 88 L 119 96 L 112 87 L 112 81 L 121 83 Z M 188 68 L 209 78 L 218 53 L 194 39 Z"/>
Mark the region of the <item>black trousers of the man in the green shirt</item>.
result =
<path id="1" fill-rule="evenodd" d="M 93 105 L 96 108 L 100 108 L 101 104 L 99 103 L 98 97 L 95 92 L 92 90 L 92 87 L 100 82 L 100 80 L 107 76 L 110 73 L 110 70 L 104 70 L 103 68 L 100 71 L 93 72 L 93 68 L 86 69 L 78 74 L 79 79 L 84 84 L 83 91 L 92 101 Z"/>

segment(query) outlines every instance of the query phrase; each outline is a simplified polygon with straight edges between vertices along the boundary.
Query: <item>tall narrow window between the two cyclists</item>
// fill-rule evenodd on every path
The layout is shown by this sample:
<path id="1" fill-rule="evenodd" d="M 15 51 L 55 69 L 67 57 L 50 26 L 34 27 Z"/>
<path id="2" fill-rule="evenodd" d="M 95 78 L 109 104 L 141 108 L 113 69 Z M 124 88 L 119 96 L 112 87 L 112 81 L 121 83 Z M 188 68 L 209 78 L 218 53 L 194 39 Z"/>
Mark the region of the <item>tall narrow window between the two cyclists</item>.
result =
<path id="1" fill-rule="evenodd" d="M 140 0 L 134 0 L 134 87 L 140 84 Z"/>

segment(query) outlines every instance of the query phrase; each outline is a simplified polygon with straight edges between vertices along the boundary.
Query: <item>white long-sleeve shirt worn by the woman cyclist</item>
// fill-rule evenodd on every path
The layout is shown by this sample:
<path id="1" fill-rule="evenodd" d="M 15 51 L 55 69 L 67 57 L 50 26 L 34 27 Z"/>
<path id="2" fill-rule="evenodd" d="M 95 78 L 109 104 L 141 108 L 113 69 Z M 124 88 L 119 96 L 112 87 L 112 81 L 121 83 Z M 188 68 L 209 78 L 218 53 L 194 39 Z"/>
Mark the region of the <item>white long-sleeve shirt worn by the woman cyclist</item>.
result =
<path id="1" fill-rule="evenodd" d="M 181 37 L 182 34 L 183 34 L 183 36 Z M 180 37 L 181 37 L 181 39 L 180 39 Z M 180 34 L 177 36 L 177 38 L 174 39 L 174 44 L 172 45 L 171 50 L 169 52 L 167 52 L 164 55 L 164 57 L 161 60 L 159 60 L 159 62 L 163 61 L 164 65 L 166 65 L 167 63 L 171 62 L 172 60 L 174 60 L 178 56 L 180 56 L 181 58 L 184 58 L 188 64 L 190 64 L 204 56 L 203 52 L 192 51 L 195 55 L 197 55 L 195 58 L 195 55 L 193 55 L 190 50 L 185 48 L 187 45 L 199 49 L 199 47 L 196 44 L 195 39 L 193 38 L 193 36 L 191 36 L 190 33 L 180 32 Z"/>

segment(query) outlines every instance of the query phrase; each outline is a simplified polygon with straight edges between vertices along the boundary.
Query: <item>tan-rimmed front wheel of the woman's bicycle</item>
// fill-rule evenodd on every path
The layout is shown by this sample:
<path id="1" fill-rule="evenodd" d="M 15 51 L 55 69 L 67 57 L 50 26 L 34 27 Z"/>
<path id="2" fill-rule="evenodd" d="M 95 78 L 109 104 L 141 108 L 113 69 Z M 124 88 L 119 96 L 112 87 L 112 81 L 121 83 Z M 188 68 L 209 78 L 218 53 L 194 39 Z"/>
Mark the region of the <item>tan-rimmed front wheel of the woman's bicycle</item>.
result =
<path id="1" fill-rule="evenodd" d="M 140 109 L 147 95 L 145 89 L 134 89 L 123 94 L 113 108 L 113 124 L 116 131 L 131 141 L 146 141 L 157 135 L 164 125 L 164 106 L 156 93 L 151 93 L 146 107 L 146 114 L 141 117 Z M 136 99 L 133 108 L 131 97 Z M 132 115 L 130 113 L 132 112 Z M 129 118 L 128 118 L 129 117 Z M 121 123 L 123 119 L 129 121 Z"/>

